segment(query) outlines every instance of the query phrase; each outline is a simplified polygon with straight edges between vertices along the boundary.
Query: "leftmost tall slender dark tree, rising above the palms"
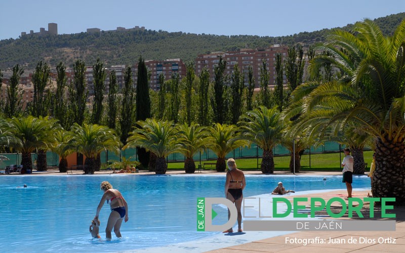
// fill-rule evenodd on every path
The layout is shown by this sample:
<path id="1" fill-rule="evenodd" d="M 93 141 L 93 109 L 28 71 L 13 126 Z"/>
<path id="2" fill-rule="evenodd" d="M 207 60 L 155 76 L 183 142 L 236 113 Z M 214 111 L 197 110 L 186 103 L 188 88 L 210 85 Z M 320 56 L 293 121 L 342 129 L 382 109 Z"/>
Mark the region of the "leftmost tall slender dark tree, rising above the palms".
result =
<path id="1" fill-rule="evenodd" d="M 24 91 L 18 85 L 23 73 L 24 70 L 18 64 L 14 65 L 13 75 L 10 77 L 9 85 L 7 86 L 7 100 L 4 108 L 4 114 L 8 118 L 18 116 L 22 111 Z"/>

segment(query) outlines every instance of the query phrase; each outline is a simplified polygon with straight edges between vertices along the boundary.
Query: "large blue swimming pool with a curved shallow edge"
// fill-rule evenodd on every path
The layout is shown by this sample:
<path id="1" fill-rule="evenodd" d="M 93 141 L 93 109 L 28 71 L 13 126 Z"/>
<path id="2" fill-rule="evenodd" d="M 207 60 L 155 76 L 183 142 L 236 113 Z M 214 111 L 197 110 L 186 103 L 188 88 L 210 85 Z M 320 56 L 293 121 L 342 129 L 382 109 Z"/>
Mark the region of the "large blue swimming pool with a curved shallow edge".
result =
<path id="1" fill-rule="evenodd" d="M 342 189 L 341 176 L 247 175 L 245 196 L 265 194 L 278 181 L 286 189 Z M 109 181 L 128 201 L 129 221 L 122 239 L 91 239 L 89 226 Z M 72 175 L 2 176 L 2 249 L 7 252 L 111 252 L 197 240 L 217 232 L 196 232 L 196 198 L 223 197 L 225 174 L 217 175 Z M 27 184 L 27 188 L 22 186 Z M 353 177 L 353 188 L 370 187 L 367 176 Z M 223 212 L 221 214 L 220 212 Z M 225 223 L 226 209 L 218 213 Z M 100 235 L 110 213 L 104 204 Z M 221 219 L 223 218 L 223 219 Z"/>

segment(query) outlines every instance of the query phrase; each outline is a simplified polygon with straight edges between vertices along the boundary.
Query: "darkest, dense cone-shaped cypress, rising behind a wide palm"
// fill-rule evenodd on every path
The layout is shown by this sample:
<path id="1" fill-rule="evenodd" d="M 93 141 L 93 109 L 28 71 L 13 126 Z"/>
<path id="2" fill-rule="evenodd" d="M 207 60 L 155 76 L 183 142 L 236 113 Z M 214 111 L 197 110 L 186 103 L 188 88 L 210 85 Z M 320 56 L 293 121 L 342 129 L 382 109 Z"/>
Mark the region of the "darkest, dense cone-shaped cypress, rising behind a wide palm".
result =
<path id="1" fill-rule="evenodd" d="M 148 70 L 142 56 L 138 61 L 138 79 L 136 86 L 136 121 L 150 118 L 150 98 Z M 137 148 L 139 161 L 144 167 L 149 164 L 149 152 L 144 148 Z"/>

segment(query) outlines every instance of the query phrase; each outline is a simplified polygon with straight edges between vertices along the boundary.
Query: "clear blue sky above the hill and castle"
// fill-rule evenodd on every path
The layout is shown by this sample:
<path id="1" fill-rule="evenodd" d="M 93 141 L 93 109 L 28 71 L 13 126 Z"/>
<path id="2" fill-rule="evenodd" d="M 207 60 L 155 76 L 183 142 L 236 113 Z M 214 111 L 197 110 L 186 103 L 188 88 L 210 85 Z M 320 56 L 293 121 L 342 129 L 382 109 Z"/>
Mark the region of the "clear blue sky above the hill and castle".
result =
<path id="1" fill-rule="evenodd" d="M 48 23 L 58 23 L 59 34 L 139 25 L 170 32 L 280 36 L 405 12 L 405 1 L 0 0 L 0 10 L 0 39 L 39 27 L 48 30 Z"/>

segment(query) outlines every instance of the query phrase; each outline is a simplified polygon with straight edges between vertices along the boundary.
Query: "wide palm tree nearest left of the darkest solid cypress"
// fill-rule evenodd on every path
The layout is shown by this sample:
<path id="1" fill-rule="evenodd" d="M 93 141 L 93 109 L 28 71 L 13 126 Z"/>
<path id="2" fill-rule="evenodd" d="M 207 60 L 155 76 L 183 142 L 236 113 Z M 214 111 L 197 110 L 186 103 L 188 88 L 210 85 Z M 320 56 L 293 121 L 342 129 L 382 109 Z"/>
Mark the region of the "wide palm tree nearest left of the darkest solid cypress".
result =
<path id="1" fill-rule="evenodd" d="M 85 173 L 94 174 L 97 168 L 96 157 L 101 151 L 113 151 L 119 153 L 119 147 L 122 145 L 115 132 L 107 126 L 97 124 L 84 124 L 83 126 L 75 123 L 71 128 L 71 140 L 68 142 L 67 149 L 74 149 L 86 156 Z"/>

